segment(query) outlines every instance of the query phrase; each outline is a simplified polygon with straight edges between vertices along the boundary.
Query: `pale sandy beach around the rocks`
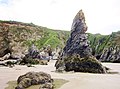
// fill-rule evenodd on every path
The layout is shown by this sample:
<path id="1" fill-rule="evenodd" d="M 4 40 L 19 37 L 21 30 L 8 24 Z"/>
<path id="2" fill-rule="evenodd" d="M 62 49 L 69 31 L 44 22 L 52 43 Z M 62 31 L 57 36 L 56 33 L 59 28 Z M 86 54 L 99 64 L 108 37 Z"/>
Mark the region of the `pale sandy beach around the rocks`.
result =
<path id="1" fill-rule="evenodd" d="M 35 67 L 20 65 L 13 68 L 0 67 L 0 89 L 4 89 L 8 81 L 17 80 L 18 76 L 29 71 L 44 71 L 51 74 L 52 78 L 68 80 L 69 82 L 60 89 L 120 89 L 120 64 L 103 63 L 111 69 L 112 74 L 56 73 L 54 64 L 55 60 L 51 60 L 48 65 L 35 65 Z"/>

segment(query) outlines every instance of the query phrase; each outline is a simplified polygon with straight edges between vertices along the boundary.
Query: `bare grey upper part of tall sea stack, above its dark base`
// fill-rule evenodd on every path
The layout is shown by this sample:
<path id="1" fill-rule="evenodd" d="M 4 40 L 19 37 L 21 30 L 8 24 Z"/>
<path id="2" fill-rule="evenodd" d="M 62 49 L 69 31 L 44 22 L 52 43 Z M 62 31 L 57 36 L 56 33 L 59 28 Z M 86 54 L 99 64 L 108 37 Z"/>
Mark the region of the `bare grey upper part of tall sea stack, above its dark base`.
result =
<path id="1" fill-rule="evenodd" d="M 87 40 L 87 34 L 85 34 L 86 31 L 85 16 L 80 10 L 73 20 L 70 38 L 63 50 L 64 56 L 79 54 L 81 57 L 85 57 L 91 55 L 89 41 Z"/>

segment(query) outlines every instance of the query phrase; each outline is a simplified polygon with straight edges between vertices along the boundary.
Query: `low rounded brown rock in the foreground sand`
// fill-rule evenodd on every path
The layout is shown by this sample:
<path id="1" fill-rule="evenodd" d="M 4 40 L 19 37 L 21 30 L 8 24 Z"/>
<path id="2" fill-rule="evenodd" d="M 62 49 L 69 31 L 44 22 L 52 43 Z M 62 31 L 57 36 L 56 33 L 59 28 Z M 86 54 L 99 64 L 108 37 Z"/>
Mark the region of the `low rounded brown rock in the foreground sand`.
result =
<path id="1" fill-rule="evenodd" d="M 53 79 L 44 72 L 28 72 L 21 75 L 17 80 L 15 89 L 25 89 L 31 85 L 41 85 L 41 88 L 53 89 Z M 40 89 L 41 89 L 40 88 Z"/>

